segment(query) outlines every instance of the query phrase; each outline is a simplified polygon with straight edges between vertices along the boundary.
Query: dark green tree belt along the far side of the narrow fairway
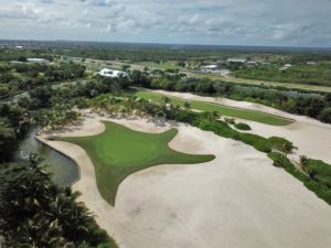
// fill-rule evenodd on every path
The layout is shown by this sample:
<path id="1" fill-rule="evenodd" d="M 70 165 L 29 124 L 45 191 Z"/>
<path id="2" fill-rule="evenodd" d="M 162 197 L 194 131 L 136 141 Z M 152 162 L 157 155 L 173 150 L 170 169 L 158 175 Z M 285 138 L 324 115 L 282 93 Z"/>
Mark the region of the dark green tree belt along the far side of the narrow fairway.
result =
<path id="1" fill-rule="evenodd" d="M 293 91 L 266 86 L 235 85 L 207 78 L 183 77 L 180 74 L 167 74 L 151 77 L 146 73 L 134 72 L 134 84 L 152 89 L 193 93 L 204 96 L 227 97 L 264 104 L 281 110 L 306 115 L 329 122 L 331 117 L 331 94 Z"/>

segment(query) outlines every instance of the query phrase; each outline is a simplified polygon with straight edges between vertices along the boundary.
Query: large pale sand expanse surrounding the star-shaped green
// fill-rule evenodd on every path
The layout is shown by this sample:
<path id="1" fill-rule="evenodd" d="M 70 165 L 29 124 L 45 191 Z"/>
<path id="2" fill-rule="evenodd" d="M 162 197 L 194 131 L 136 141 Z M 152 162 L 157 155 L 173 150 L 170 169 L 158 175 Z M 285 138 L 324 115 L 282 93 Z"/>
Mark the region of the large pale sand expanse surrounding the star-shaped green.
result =
<path id="1" fill-rule="evenodd" d="M 103 131 L 90 115 L 65 136 Z M 170 122 L 109 119 L 129 128 L 161 132 Z M 175 125 L 170 142 L 183 152 L 212 153 L 194 165 L 159 165 L 127 177 L 113 208 L 100 196 L 94 166 L 77 145 L 45 141 L 73 158 L 81 180 L 73 186 L 114 235 L 120 248 L 330 248 L 331 207 L 298 180 L 244 143 Z M 143 145 L 143 144 L 142 144 Z"/>

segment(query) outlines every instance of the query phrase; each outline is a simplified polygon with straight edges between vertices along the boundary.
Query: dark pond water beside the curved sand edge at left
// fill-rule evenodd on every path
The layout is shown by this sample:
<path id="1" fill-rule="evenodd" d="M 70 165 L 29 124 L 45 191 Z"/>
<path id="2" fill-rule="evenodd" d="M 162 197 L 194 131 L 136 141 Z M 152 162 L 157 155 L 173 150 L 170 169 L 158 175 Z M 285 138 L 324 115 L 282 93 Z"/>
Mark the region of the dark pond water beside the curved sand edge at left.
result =
<path id="1" fill-rule="evenodd" d="M 74 161 L 60 152 L 39 142 L 35 138 L 35 129 L 31 129 L 21 141 L 15 160 L 26 158 L 31 152 L 41 154 L 45 163 L 51 164 L 50 172 L 53 174 L 54 182 L 60 186 L 67 186 L 79 179 L 78 166 Z"/>

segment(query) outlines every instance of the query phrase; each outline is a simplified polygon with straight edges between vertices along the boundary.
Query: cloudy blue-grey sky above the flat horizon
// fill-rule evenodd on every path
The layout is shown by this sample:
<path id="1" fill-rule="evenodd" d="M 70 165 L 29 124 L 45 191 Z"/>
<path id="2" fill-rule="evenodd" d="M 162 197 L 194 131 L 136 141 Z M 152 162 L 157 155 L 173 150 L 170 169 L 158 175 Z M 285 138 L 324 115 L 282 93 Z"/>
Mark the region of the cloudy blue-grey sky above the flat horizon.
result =
<path id="1" fill-rule="evenodd" d="M 0 39 L 331 46 L 331 0 L 0 0 Z"/>

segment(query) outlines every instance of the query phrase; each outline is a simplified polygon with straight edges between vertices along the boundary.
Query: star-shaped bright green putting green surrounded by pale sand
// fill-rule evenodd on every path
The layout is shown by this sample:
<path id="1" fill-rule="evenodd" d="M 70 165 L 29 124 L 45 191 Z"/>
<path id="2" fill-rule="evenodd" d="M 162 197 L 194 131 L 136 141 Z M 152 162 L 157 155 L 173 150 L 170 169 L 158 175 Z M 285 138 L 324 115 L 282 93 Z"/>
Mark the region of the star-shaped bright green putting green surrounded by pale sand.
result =
<path id="1" fill-rule="evenodd" d="M 93 137 L 70 137 L 57 140 L 82 147 L 89 155 L 103 197 L 115 205 L 121 181 L 134 172 L 158 164 L 193 164 L 213 160 L 214 155 L 193 155 L 174 151 L 168 143 L 178 130 L 146 133 L 104 121 L 105 132 Z"/>

